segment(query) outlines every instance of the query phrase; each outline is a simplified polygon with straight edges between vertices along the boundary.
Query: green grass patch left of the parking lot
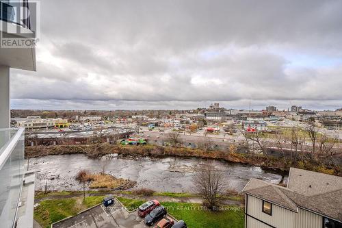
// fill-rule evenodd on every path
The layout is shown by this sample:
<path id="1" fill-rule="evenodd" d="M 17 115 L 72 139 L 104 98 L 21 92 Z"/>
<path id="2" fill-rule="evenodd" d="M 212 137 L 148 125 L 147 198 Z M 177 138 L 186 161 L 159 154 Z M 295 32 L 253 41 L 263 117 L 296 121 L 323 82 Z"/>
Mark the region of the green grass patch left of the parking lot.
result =
<path id="1" fill-rule="evenodd" d="M 75 198 L 71 199 L 51 199 L 41 201 L 34 210 L 34 219 L 38 221 L 42 227 L 49 227 L 51 223 L 58 220 L 75 216 L 81 210 L 77 207 Z"/>

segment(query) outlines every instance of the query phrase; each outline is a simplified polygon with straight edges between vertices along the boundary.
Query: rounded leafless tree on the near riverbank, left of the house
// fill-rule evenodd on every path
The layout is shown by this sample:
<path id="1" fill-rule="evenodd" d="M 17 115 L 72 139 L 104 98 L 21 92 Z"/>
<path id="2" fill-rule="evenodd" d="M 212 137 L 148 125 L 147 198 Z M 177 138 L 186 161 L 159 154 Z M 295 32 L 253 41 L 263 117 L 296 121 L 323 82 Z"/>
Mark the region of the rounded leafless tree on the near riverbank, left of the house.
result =
<path id="1" fill-rule="evenodd" d="M 195 192 L 205 199 L 210 209 L 218 205 L 218 197 L 224 193 L 226 188 L 221 170 L 216 169 L 211 162 L 201 164 L 192 181 Z"/>

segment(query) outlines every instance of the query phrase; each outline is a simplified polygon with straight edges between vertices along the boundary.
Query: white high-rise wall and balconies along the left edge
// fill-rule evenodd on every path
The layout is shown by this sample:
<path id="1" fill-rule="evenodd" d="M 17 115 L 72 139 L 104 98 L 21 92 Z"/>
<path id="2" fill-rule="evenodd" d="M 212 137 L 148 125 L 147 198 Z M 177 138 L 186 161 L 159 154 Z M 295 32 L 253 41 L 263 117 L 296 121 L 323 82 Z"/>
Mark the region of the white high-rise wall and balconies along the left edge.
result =
<path id="1" fill-rule="evenodd" d="M 33 33 L 29 18 L 15 20 L 17 14 L 26 12 L 26 0 L 15 3 L 17 10 L 12 1 L 0 1 L 0 4 L 1 45 L 4 37 L 26 39 L 27 34 Z M 23 31 L 26 36 L 13 31 Z M 34 173 L 25 170 L 25 129 L 10 128 L 10 68 L 36 71 L 35 47 L 0 47 L 0 227 L 31 228 L 34 222 Z"/>

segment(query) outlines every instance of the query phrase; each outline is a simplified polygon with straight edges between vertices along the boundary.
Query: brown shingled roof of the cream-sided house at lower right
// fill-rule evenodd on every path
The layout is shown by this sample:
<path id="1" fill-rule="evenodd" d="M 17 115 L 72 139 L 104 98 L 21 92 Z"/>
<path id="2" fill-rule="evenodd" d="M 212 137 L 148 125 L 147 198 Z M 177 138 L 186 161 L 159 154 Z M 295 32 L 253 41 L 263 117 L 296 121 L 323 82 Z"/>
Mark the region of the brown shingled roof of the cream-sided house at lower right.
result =
<path id="1" fill-rule="evenodd" d="M 342 177 L 291 168 L 287 188 L 250 179 L 243 192 L 294 212 L 303 207 L 342 221 Z"/>

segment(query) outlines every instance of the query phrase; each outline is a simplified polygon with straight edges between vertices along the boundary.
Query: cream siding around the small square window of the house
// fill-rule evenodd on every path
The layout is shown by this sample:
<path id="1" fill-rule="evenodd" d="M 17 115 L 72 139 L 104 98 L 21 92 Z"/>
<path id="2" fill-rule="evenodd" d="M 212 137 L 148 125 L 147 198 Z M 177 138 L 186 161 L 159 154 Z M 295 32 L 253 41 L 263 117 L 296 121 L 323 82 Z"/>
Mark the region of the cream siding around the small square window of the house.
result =
<path id="1" fill-rule="evenodd" d="M 248 195 L 247 214 L 277 228 L 294 228 L 295 212 L 272 204 L 272 216 L 263 213 L 263 201 Z M 247 222 L 250 217 L 247 218 Z M 249 223 L 249 222 L 248 222 Z M 248 226 L 254 228 L 254 225 Z M 255 226 L 256 227 L 256 226 Z M 259 226 L 258 226 L 259 227 Z"/>

